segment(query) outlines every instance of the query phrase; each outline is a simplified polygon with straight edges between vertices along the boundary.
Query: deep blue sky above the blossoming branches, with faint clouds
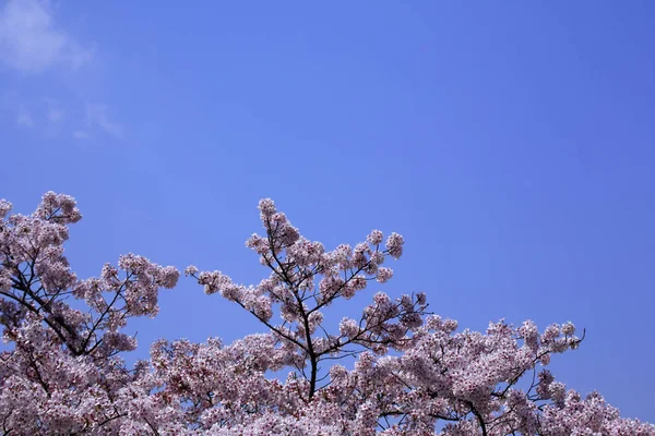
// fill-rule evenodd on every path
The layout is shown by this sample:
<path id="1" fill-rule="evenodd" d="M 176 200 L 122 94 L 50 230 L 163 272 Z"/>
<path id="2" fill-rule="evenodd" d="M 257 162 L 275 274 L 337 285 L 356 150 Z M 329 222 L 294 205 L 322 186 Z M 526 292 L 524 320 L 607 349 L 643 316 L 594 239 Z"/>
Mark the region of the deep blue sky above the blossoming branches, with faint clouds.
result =
<path id="1" fill-rule="evenodd" d="M 0 2 L 0 197 L 75 196 L 81 277 L 134 252 L 255 283 L 266 196 L 327 249 L 400 232 L 380 290 L 475 329 L 571 319 L 587 338 L 555 374 L 655 421 L 654 20 L 648 1 Z M 160 305 L 130 359 L 261 331 L 191 280 Z"/>

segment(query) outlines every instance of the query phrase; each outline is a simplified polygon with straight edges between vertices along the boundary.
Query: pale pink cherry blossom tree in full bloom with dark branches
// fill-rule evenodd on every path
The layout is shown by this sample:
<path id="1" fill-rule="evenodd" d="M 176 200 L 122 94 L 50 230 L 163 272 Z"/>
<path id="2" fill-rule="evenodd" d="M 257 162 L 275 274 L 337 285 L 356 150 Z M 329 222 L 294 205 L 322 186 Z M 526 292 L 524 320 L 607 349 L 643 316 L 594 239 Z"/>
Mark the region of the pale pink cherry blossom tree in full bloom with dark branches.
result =
<path id="1" fill-rule="evenodd" d="M 72 197 L 46 193 L 29 216 L 0 201 L 0 431 L 4 435 L 655 435 L 546 368 L 584 338 L 572 323 L 485 332 L 428 312 L 426 294 L 378 292 L 331 330 L 337 300 L 384 283 L 403 238 L 374 230 L 326 251 L 271 199 L 247 246 L 270 275 L 257 286 L 221 271 L 186 275 L 266 327 L 231 344 L 156 341 L 128 368 L 132 317 L 158 312 L 179 271 L 128 254 L 79 279 L 63 255 L 81 219 Z M 248 314 L 249 313 L 249 314 Z M 284 374 L 283 377 L 277 375 Z M 284 378 L 286 376 L 286 378 Z"/>

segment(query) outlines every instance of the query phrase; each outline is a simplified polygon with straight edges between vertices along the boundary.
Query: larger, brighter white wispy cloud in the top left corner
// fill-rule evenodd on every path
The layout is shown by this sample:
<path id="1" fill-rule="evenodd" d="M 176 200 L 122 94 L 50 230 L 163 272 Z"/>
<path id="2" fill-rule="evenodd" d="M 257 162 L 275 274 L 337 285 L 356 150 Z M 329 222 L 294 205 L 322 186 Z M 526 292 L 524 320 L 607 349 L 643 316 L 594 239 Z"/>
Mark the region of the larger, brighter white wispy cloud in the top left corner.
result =
<path id="1" fill-rule="evenodd" d="M 75 70 L 93 56 L 56 23 L 47 0 L 9 0 L 0 10 L 0 62 L 23 73 Z"/>

